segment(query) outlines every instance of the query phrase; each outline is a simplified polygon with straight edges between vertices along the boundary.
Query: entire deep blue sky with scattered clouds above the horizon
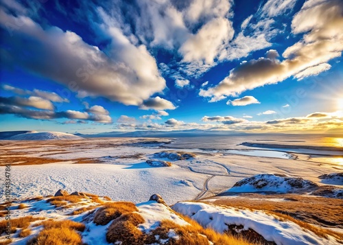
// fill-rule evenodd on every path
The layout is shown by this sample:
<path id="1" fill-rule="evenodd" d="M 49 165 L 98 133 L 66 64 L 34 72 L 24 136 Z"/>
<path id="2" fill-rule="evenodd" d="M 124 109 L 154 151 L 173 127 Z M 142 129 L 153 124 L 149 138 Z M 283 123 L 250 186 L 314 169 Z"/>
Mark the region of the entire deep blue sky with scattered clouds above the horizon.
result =
<path id="1" fill-rule="evenodd" d="M 2 131 L 342 131 L 340 0 L 0 8 Z"/>

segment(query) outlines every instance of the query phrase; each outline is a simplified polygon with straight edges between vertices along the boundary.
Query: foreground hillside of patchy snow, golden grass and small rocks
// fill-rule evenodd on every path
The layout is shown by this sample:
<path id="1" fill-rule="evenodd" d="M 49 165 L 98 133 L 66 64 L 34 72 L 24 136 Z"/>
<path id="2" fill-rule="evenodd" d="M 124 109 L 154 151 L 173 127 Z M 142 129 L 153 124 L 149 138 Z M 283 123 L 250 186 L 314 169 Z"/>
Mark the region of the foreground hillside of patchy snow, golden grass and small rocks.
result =
<path id="1" fill-rule="evenodd" d="M 0 207 L 6 215 L 7 204 Z M 0 243 L 252 245 L 261 241 L 258 243 L 334 245 L 341 240 L 339 234 L 327 234 L 325 229 L 320 233 L 318 227 L 300 226 L 263 211 L 203 202 L 178 202 L 172 209 L 156 194 L 134 205 L 59 190 L 54 197 L 12 202 L 12 227 L 7 230 L 7 221 L 0 222 Z"/>

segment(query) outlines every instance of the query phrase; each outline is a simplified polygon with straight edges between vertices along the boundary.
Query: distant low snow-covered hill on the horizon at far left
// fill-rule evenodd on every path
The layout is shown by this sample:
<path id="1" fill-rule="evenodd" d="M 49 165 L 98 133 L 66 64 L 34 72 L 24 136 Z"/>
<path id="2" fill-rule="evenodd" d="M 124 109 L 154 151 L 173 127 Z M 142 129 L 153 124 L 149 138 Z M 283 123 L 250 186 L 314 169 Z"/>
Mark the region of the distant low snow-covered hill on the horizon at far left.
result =
<path id="1" fill-rule="evenodd" d="M 66 132 L 27 132 L 25 134 L 14 135 L 7 140 L 23 140 L 23 141 L 46 141 L 60 139 L 83 139 L 82 137 L 71 135 Z"/>

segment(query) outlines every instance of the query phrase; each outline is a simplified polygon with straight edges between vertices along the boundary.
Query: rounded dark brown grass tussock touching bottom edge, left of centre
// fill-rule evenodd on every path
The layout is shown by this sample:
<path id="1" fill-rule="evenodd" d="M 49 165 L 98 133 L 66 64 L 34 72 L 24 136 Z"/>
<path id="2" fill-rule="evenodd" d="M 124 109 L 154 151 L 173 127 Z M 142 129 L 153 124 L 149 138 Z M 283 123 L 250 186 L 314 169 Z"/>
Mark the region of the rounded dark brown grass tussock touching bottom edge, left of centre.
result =
<path id="1" fill-rule="evenodd" d="M 121 245 L 143 245 L 143 233 L 137 229 L 137 225 L 145 220 L 139 213 L 126 213 L 113 220 L 106 233 L 108 243 L 121 241 Z"/>

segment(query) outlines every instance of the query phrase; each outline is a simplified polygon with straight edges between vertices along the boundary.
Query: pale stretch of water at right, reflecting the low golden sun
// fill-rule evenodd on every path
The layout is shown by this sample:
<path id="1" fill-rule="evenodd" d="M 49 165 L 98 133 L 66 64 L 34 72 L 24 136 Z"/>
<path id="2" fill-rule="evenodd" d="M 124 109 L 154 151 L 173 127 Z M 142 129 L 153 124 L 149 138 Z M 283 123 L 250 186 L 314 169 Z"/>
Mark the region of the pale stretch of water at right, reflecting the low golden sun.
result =
<path id="1" fill-rule="evenodd" d="M 343 138 L 332 135 L 180 137 L 165 146 L 280 159 L 294 159 L 297 154 L 303 154 L 314 163 L 343 166 Z"/>

